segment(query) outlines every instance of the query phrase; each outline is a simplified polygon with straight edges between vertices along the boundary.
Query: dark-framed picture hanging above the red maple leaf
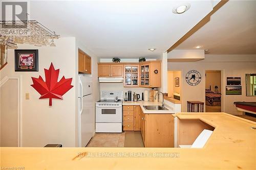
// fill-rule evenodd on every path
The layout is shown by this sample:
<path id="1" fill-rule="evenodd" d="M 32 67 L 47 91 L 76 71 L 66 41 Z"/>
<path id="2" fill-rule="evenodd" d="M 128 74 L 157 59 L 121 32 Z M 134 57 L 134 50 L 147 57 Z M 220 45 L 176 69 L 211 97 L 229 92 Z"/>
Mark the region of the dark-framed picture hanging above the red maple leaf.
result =
<path id="1" fill-rule="evenodd" d="M 15 71 L 38 71 L 38 50 L 14 50 Z"/>

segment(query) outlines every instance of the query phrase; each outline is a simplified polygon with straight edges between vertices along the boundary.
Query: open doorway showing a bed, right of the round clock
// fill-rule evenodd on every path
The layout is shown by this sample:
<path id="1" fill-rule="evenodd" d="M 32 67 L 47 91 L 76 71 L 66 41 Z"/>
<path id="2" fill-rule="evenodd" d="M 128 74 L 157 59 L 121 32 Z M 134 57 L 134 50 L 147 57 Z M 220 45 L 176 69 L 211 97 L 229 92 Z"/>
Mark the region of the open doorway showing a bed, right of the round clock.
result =
<path id="1" fill-rule="evenodd" d="M 205 111 L 221 112 L 221 70 L 205 70 Z"/>

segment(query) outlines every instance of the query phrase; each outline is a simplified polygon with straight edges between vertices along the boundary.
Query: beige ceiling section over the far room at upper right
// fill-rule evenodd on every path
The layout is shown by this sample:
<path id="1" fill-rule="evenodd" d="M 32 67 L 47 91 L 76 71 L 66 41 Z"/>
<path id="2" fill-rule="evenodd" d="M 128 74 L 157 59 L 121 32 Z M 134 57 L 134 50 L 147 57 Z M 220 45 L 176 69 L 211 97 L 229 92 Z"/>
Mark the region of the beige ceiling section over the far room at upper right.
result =
<path id="1" fill-rule="evenodd" d="M 210 54 L 256 54 L 256 1 L 228 1 L 197 32 L 175 49 Z"/>

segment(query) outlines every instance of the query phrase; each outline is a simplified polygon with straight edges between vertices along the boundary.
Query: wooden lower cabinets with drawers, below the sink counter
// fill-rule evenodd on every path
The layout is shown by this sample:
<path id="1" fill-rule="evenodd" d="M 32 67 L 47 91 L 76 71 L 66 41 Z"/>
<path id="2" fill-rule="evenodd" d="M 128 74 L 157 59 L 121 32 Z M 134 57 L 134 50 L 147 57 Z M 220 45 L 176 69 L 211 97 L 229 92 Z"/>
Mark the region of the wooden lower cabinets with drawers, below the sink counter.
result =
<path id="1" fill-rule="evenodd" d="M 144 114 L 140 106 L 123 106 L 123 130 L 141 131 L 144 147 L 174 147 L 174 117 L 172 114 Z"/>

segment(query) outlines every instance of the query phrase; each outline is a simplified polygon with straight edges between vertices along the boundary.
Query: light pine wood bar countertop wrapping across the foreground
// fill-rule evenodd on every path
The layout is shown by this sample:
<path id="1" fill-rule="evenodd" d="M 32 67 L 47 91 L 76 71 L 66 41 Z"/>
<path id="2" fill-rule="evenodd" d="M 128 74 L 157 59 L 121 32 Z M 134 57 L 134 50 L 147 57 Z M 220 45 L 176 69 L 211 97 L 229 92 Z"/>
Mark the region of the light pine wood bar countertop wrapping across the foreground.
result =
<path id="1" fill-rule="evenodd" d="M 200 119 L 215 127 L 204 148 L 0 148 L 1 167 L 22 166 L 26 170 L 255 169 L 256 130 L 251 127 L 256 123 L 226 113 L 174 116 Z"/>

